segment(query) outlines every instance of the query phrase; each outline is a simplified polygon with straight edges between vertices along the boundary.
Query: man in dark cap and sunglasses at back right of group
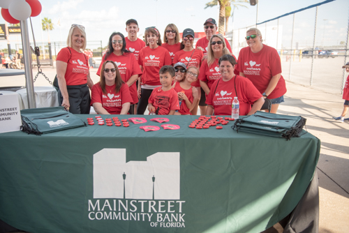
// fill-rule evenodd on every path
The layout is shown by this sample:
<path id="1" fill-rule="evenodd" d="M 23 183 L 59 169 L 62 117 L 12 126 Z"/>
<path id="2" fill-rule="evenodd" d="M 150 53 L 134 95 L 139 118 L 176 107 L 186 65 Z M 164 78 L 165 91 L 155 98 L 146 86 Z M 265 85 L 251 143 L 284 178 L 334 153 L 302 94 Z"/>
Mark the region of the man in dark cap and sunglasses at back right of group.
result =
<path id="1" fill-rule="evenodd" d="M 204 24 L 204 31 L 206 37 L 199 39 L 198 42 L 196 42 L 195 48 L 198 50 L 202 50 L 202 52 L 204 52 L 204 56 L 207 56 L 207 46 L 209 45 L 209 39 L 211 39 L 211 36 L 215 35 L 217 31 L 216 20 L 212 18 L 207 19 Z M 230 53 L 232 53 L 232 48 L 230 47 L 228 40 L 225 38 L 224 40 L 228 50 L 230 51 Z"/>

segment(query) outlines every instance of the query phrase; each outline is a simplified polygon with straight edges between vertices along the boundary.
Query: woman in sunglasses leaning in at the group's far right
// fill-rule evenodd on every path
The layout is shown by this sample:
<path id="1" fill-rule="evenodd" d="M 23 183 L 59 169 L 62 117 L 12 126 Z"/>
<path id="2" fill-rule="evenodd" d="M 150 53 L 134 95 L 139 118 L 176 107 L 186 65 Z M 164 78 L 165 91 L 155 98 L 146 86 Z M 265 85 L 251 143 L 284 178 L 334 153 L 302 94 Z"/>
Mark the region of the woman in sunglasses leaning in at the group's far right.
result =
<path id="1" fill-rule="evenodd" d="M 287 91 L 281 75 L 279 54 L 273 47 L 262 43 L 262 34 L 258 29 L 248 29 L 246 43 L 248 47 L 240 50 L 237 69 L 241 76 L 251 80 L 264 98 L 272 101 L 270 112 L 276 113 Z"/>

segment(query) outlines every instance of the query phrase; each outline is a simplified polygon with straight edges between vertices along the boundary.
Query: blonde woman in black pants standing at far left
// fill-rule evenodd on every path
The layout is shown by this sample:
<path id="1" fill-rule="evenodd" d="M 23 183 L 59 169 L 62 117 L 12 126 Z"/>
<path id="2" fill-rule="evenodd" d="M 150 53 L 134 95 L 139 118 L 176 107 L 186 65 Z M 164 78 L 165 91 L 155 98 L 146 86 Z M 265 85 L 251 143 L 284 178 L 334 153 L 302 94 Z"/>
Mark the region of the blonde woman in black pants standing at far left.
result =
<path id="1" fill-rule="evenodd" d="M 74 114 L 89 114 L 89 89 L 92 82 L 89 75 L 88 58 L 82 51 L 86 48 L 86 33 L 82 25 L 70 27 L 67 45 L 57 54 L 57 80 L 59 105 Z"/>

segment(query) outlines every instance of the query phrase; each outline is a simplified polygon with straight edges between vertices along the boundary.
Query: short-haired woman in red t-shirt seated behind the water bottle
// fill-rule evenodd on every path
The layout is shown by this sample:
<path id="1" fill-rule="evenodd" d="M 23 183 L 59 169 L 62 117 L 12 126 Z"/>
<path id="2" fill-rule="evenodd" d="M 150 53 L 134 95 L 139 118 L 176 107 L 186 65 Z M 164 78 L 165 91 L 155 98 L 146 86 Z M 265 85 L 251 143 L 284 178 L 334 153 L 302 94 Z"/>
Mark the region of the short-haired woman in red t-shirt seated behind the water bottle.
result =
<path id="1" fill-rule="evenodd" d="M 206 114 L 230 116 L 234 97 L 239 100 L 239 115 L 251 115 L 260 110 L 264 99 L 250 80 L 234 74 L 236 65 L 234 57 L 225 54 L 218 60 L 218 64 L 222 77 L 211 86 L 206 98 Z"/>

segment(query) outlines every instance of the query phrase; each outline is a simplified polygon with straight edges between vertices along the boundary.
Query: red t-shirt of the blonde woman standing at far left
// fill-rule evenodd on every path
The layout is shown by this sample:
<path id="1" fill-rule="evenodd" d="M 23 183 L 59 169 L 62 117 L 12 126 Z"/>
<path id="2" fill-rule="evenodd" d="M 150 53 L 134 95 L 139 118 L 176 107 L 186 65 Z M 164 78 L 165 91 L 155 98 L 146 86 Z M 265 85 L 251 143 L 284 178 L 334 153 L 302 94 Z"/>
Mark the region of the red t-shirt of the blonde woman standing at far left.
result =
<path id="1" fill-rule="evenodd" d="M 67 86 L 87 84 L 89 64 L 87 63 L 88 58 L 84 53 L 77 52 L 72 47 L 64 47 L 57 54 L 57 61 L 67 63 L 66 75 L 64 75 Z"/>

